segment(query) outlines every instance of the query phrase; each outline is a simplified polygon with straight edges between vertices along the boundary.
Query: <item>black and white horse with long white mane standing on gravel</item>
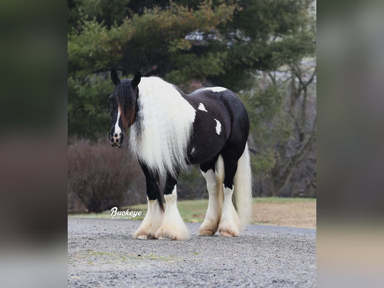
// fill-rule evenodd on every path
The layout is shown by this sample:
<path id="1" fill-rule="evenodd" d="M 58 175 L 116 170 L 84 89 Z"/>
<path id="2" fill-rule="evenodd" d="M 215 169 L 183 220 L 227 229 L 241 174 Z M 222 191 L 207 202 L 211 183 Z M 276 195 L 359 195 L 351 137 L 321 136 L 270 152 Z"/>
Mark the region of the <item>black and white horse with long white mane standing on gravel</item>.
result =
<path id="1" fill-rule="evenodd" d="M 129 128 L 129 147 L 145 175 L 148 209 L 137 239 L 185 240 L 189 231 L 177 209 L 180 170 L 199 164 L 207 182 L 208 209 L 202 236 L 238 236 L 252 205 L 249 117 L 240 98 L 223 87 L 184 94 L 159 77 L 121 79 L 111 71 L 111 146 L 121 148 Z M 162 202 L 159 179 L 165 179 Z M 232 196 L 234 195 L 234 203 Z"/>

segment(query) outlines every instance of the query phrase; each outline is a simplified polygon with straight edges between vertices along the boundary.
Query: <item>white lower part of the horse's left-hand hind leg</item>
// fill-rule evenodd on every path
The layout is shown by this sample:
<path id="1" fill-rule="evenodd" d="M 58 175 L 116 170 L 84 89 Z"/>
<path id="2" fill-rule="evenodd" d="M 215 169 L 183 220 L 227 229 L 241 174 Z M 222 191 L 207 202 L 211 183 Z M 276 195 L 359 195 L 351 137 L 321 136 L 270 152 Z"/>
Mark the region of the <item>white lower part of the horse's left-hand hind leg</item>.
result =
<path id="1" fill-rule="evenodd" d="M 202 174 L 207 181 L 207 190 L 209 194 L 208 209 L 204 222 L 199 228 L 200 235 L 214 235 L 218 229 L 220 216 L 221 216 L 221 206 L 219 201 L 219 191 L 220 180 L 219 176 L 212 169 Z"/>

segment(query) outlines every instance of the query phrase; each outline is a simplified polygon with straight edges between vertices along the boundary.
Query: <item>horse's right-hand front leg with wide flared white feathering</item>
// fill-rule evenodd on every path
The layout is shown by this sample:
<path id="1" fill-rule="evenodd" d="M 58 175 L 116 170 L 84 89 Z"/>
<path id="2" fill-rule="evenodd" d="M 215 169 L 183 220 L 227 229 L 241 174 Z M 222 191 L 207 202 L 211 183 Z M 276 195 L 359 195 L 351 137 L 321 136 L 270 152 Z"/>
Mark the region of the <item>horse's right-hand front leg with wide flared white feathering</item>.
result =
<path id="1" fill-rule="evenodd" d="M 188 228 L 186 228 L 177 209 L 176 183 L 177 177 L 167 176 L 164 188 L 165 212 L 161 227 L 156 231 L 156 238 L 172 240 L 185 240 L 189 238 Z"/>

